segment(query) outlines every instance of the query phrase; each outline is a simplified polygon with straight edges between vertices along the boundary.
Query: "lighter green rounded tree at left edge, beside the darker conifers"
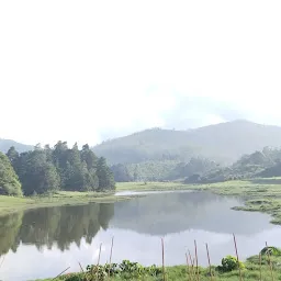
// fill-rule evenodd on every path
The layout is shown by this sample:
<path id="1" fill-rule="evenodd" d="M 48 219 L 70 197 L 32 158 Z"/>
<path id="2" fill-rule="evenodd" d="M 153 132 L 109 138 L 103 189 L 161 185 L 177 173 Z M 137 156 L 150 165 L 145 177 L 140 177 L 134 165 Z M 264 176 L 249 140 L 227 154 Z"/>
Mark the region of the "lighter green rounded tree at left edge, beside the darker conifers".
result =
<path id="1" fill-rule="evenodd" d="M 21 195 L 21 183 L 9 158 L 0 153 L 0 194 Z"/>

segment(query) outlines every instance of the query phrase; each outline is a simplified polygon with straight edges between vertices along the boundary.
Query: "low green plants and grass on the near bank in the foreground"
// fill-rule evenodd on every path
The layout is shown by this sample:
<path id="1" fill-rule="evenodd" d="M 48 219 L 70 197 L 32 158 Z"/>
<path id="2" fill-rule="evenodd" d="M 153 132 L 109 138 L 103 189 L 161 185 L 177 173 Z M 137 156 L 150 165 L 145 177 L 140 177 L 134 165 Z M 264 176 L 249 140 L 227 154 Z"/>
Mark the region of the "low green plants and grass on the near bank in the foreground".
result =
<path id="1" fill-rule="evenodd" d="M 175 267 L 143 267 L 137 262 L 123 260 L 120 265 L 88 266 L 80 273 L 66 273 L 55 279 L 60 281 L 93 281 L 93 280 L 220 280 L 220 281 L 272 281 L 281 279 L 281 257 L 260 252 L 240 262 L 236 257 L 227 256 L 222 259 L 222 266 L 207 268 L 196 267 L 195 258 L 187 256 L 187 266 Z M 164 278 L 165 277 L 165 278 Z M 45 280 L 47 281 L 47 280 Z"/>

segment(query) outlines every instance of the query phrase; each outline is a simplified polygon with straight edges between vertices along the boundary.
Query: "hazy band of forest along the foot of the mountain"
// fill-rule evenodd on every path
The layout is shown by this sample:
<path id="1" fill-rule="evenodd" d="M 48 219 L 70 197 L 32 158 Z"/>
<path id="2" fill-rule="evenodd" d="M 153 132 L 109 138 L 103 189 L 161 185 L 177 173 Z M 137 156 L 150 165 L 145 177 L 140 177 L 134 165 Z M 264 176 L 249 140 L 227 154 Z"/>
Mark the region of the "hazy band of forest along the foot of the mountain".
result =
<path id="1" fill-rule="evenodd" d="M 281 177 L 281 149 L 265 147 L 243 155 L 231 165 L 207 158 L 192 157 L 188 161 L 144 161 L 111 167 L 116 181 L 175 181 L 212 183 L 227 180 Z"/>

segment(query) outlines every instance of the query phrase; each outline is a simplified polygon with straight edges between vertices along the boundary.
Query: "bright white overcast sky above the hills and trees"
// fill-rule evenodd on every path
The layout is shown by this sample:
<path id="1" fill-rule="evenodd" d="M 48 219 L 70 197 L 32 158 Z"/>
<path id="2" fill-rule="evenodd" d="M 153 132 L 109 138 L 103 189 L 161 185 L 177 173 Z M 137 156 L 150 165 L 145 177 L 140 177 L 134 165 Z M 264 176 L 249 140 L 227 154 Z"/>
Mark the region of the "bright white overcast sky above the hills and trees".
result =
<path id="1" fill-rule="evenodd" d="M 0 1 L 0 137 L 281 125 L 281 1 Z"/>

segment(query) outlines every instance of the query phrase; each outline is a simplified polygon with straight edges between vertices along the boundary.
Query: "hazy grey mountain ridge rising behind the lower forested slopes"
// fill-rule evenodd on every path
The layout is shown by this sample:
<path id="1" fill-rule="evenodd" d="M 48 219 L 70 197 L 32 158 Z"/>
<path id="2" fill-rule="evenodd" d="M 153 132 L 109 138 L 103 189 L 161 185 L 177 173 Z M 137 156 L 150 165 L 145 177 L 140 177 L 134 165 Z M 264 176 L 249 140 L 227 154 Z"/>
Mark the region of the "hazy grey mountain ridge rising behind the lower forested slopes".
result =
<path id="1" fill-rule="evenodd" d="M 265 146 L 281 146 L 281 127 L 237 120 L 189 131 L 146 130 L 104 142 L 94 146 L 93 151 L 111 164 L 191 157 L 233 162 Z"/>

